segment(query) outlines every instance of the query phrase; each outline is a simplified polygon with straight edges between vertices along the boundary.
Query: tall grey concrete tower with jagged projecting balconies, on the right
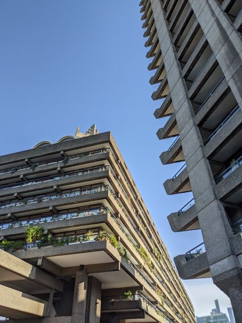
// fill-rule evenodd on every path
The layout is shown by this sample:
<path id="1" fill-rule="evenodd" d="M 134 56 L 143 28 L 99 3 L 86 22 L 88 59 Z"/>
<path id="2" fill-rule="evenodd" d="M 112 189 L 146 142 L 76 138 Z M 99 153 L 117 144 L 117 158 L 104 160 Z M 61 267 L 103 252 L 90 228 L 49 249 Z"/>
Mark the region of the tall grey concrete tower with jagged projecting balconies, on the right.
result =
<path id="1" fill-rule="evenodd" d="M 163 165 L 182 167 L 167 194 L 193 199 L 168 216 L 174 232 L 201 229 L 204 242 L 175 258 L 182 279 L 212 277 L 242 322 L 242 2 L 142 0 L 152 94 L 166 118 L 159 139 L 175 137 Z M 162 100 L 161 100 L 162 99 Z M 161 100 L 161 101 L 160 101 Z M 191 246 L 192 247 L 192 246 Z"/>

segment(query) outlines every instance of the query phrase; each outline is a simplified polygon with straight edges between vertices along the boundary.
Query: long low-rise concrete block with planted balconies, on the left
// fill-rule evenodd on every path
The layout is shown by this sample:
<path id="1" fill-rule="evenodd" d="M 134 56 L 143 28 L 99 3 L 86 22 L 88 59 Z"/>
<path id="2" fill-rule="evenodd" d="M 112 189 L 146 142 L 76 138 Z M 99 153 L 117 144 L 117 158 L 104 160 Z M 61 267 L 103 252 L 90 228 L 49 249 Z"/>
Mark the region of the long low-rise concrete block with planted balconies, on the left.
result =
<path id="1" fill-rule="evenodd" d="M 195 322 L 111 133 L 77 133 L 0 157 L 0 315 Z"/>

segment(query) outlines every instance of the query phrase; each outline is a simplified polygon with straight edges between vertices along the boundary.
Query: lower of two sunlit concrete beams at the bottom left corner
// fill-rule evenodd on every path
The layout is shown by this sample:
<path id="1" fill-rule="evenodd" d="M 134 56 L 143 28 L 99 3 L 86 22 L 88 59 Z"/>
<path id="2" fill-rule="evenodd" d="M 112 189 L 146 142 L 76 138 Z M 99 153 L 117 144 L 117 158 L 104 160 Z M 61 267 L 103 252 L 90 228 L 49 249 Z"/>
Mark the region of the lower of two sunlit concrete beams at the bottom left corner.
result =
<path id="1" fill-rule="evenodd" d="M 47 302 L 43 299 L 0 285 L 0 315 L 10 318 L 43 317 Z"/>

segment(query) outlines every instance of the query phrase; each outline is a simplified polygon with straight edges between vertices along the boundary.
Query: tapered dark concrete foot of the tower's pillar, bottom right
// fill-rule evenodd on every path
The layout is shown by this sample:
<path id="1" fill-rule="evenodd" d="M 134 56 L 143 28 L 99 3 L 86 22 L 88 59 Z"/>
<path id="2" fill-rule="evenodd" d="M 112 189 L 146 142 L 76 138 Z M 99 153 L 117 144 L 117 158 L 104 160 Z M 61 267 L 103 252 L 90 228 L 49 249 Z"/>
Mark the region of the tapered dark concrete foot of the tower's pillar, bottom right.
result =
<path id="1" fill-rule="evenodd" d="M 236 323 L 242 323 L 242 272 L 233 268 L 213 277 L 213 283 L 229 298 L 232 304 Z"/>

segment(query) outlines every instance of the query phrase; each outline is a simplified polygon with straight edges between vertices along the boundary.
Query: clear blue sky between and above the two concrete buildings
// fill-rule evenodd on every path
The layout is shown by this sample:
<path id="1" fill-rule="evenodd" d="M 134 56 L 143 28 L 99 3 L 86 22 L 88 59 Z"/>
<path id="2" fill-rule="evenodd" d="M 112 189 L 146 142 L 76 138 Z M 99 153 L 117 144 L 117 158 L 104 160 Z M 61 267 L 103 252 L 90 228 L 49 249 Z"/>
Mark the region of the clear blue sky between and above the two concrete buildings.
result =
<path id="1" fill-rule="evenodd" d="M 162 183 L 183 165 L 162 166 L 147 70 L 149 49 L 140 0 L 2 0 L 0 2 L 1 154 L 55 143 L 95 123 L 111 131 L 171 257 L 203 241 L 200 230 L 173 233 L 166 216 L 191 194 L 167 196 Z M 210 279 L 184 281 L 197 315 L 228 297 Z"/>

